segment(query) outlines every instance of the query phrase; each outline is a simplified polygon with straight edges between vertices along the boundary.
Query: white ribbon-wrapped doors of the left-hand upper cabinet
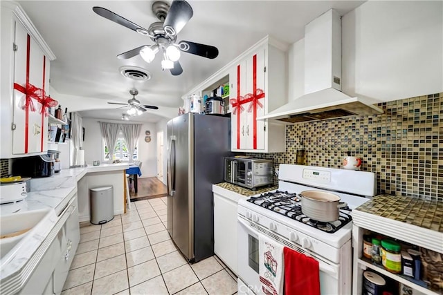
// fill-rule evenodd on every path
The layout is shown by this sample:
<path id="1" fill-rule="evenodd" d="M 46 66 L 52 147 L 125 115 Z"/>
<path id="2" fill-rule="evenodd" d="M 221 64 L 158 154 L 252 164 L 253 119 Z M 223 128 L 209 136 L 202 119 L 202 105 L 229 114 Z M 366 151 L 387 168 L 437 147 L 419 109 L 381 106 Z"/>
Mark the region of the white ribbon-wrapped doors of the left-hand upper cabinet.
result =
<path id="1" fill-rule="evenodd" d="M 35 98 L 27 98 L 23 89 L 28 84 L 46 88 L 49 64 L 46 65 L 46 58 L 38 44 L 17 21 L 15 44 L 14 82 L 23 88 L 14 90 L 12 153 L 39 153 L 46 148 L 48 119 L 42 114 L 42 104 Z"/>

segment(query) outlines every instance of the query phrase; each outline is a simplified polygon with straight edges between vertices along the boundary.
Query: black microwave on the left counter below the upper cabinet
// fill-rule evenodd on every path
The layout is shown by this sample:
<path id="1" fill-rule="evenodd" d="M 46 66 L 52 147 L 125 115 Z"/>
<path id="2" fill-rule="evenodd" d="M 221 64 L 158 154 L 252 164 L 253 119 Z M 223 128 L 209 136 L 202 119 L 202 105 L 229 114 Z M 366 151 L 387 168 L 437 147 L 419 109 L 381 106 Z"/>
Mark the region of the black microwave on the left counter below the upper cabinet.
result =
<path id="1" fill-rule="evenodd" d="M 12 161 L 12 174 L 21 177 L 44 178 L 54 174 L 53 155 L 33 155 Z"/>

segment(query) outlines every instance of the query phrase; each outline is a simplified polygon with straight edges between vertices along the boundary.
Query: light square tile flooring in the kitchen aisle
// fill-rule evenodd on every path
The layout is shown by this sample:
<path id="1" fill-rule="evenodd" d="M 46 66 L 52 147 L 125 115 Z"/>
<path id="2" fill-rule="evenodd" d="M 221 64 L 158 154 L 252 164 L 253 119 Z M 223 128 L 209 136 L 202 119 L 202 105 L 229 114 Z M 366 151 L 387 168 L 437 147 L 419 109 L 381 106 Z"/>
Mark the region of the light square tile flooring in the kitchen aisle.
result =
<path id="1" fill-rule="evenodd" d="M 235 275 L 217 256 L 183 258 L 166 231 L 165 202 L 133 202 L 104 225 L 82 222 L 62 294 L 235 294 Z"/>

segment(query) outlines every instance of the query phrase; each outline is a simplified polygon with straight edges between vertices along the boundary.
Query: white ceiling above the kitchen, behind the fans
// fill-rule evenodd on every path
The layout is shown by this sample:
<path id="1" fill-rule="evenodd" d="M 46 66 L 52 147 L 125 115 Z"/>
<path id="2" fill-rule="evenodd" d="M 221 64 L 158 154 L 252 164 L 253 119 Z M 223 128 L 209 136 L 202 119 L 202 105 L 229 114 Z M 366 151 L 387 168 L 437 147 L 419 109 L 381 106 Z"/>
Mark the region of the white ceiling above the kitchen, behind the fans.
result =
<path id="1" fill-rule="evenodd" d="M 142 104 L 159 106 L 137 121 L 158 122 L 162 109 L 183 105 L 181 96 L 228 64 L 266 35 L 293 44 L 304 35 L 305 25 L 330 8 L 341 15 L 364 1 L 189 1 L 194 16 L 179 32 L 177 41 L 188 40 L 216 46 L 219 56 L 206 59 L 182 53 L 183 73 L 172 76 L 161 70 L 157 54 L 151 64 L 138 55 L 120 60 L 116 55 L 142 45 L 151 45 L 140 35 L 93 12 L 107 8 L 148 28 L 154 21 L 153 1 L 18 1 L 57 57 L 51 61 L 51 87 L 62 95 L 84 99 L 82 117 L 119 120 L 125 109 L 115 110 L 107 102 L 127 102 L 129 89 L 139 91 Z M 138 66 L 152 77 L 145 82 L 120 75 L 121 66 Z M 57 99 L 57 97 L 55 97 Z M 89 106 L 88 100 L 96 103 Z M 97 103 L 98 102 L 98 103 Z M 92 104 L 91 104 L 92 105 Z M 91 111 L 91 108 L 94 110 Z M 156 112 L 158 112 L 156 114 Z M 160 115 L 159 115 L 160 114 Z"/>

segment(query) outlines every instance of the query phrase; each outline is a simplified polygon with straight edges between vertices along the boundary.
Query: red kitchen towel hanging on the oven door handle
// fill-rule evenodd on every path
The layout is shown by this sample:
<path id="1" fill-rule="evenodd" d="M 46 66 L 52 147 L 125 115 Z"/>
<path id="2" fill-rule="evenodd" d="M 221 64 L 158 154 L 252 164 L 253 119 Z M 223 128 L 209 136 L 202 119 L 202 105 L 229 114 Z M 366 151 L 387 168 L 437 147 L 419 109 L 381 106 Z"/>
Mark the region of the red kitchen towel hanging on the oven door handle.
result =
<path id="1" fill-rule="evenodd" d="M 284 295 L 320 295 L 318 261 L 284 247 Z"/>

